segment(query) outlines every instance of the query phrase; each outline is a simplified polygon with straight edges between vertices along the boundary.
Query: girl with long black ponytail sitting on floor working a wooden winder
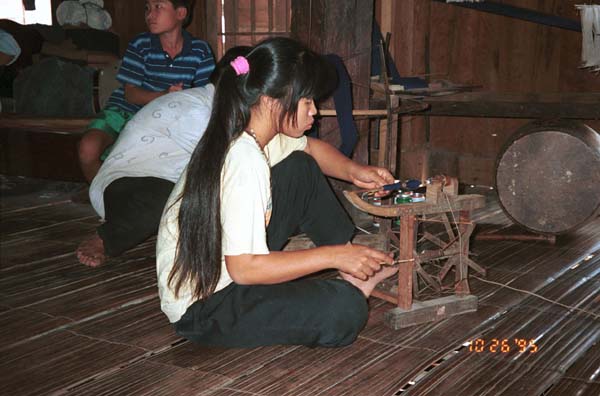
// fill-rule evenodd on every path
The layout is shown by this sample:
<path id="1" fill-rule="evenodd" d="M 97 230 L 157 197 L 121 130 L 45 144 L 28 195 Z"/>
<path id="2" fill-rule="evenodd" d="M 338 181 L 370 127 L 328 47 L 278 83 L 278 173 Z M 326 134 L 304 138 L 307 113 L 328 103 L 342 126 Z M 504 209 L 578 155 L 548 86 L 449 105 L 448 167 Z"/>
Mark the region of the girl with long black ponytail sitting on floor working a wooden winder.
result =
<path id="1" fill-rule="evenodd" d="M 350 243 L 354 226 L 323 174 L 363 188 L 392 175 L 304 136 L 333 73 L 298 42 L 273 38 L 221 75 L 159 229 L 161 307 L 181 336 L 226 347 L 347 345 L 367 320 L 366 297 L 397 271 L 384 265 L 389 255 Z M 280 251 L 298 231 L 317 247 Z M 299 279 L 330 268 L 339 279 Z"/>

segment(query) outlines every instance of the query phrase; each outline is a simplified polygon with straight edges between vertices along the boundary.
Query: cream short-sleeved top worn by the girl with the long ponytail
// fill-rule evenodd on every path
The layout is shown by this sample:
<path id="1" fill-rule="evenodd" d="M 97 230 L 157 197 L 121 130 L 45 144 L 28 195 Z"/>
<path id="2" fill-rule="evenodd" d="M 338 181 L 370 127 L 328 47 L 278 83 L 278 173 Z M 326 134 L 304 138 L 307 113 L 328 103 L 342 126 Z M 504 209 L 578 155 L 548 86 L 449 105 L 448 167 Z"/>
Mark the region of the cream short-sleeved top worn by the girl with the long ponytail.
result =
<path id="1" fill-rule="evenodd" d="M 271 216 L 270 167 L 295 150 L 304 150 L 306 137 L 277 134 L 265 147 L 265 155 L 252 136 L 242 133 L 230 146 L 221 170 L 221 277 L 216 291 L 232 283 L 225 256 L 268 254 L 266 226 Z M 267 160 L 268 159 L 268 160 Z M 179 199 L 185 185 L 184 172 L 175 184 L 163 213 L 156 244 L 156 266 L 161 309 L 171 323 L 177 322 L 192 305 L 190 285 L 176 297 L 168 285 L 177 248 Z M 208 232 L 208 230 L 207 230 Z"/>

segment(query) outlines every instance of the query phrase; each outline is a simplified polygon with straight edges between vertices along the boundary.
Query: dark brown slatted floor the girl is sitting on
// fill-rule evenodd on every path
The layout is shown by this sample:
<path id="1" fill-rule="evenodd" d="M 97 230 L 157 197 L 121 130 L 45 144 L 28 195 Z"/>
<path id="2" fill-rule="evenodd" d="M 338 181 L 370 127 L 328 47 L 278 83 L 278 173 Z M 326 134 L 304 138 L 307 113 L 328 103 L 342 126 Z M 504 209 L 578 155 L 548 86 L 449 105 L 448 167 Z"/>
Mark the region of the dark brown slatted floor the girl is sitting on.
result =
<path id="1" fill-rule="evenodd" d="M 391 305 L 372 300 L 349 347 L 222 350 L 174 334 L 152 241 L 98 269 L 77 263 L 98 224 L 69 199 L 80 185 L 0 179 L 1 395 L 600 395 L 600 218 L 554 246 L 473 242 L 500 284 L 471 279 L 477 312 L 393 331 Z M 490 201 L 479 230 L 509 224 Z M 483 351 L 470 351 L 477 338 Z M 510 351 L 491 352 L 492 339 Z"/>

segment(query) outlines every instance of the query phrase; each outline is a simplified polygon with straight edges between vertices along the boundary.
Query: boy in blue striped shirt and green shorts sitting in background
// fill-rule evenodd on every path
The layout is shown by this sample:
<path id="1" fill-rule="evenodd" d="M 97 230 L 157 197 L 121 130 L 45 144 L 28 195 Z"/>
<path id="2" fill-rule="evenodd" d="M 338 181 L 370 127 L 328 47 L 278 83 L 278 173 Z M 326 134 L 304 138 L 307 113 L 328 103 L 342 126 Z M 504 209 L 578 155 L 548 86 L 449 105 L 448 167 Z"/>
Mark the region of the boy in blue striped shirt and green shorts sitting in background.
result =
<path id="1" fill-rule="evenodd" d="M 109 98 L 79 143 L 81 170 L 91 182 L 103 153 L 127 121 L 153 99 L 208 83 L 215 68 L 210 47 L 183 30 L 190 19 L 190 0 L 146 0 L 148 32 L 135 37 L 121 62 L 122 86 Z"/>

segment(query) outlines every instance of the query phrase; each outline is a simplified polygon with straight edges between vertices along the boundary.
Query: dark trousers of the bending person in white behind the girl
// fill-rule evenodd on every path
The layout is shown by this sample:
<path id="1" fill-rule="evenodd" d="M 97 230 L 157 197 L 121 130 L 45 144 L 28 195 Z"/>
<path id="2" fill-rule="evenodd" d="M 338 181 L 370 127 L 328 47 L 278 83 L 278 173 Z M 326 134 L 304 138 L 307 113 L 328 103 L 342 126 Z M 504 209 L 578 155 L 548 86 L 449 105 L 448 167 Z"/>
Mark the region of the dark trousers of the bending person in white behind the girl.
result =
<path id="1" fill-rule="evenodd" d="M 97 229 L 108 256 L 156 235 L 174 184 L 156 177 L 123 177 L 104 190 L 105 222 Z"/>

